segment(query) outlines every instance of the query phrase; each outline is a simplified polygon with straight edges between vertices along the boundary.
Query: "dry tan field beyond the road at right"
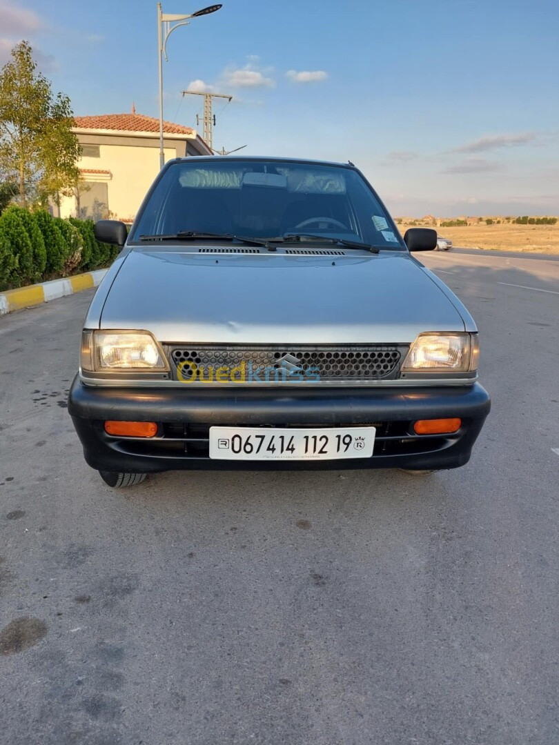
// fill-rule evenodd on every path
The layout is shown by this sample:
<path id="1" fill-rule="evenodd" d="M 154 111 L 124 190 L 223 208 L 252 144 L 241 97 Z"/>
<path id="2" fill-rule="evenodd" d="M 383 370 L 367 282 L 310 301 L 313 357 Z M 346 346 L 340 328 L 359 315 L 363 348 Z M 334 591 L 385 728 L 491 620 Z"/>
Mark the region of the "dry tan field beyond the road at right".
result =
<path id="1" fill-rule="evenodd" d="M 408 226 L 400 224 L 402 235 Z M 499 251 L 533 251 L 559 253 L 559 223 L 555 225 L 467 225 L 460 228 L 437 228 L 439 235 L 464 248 Z"/>

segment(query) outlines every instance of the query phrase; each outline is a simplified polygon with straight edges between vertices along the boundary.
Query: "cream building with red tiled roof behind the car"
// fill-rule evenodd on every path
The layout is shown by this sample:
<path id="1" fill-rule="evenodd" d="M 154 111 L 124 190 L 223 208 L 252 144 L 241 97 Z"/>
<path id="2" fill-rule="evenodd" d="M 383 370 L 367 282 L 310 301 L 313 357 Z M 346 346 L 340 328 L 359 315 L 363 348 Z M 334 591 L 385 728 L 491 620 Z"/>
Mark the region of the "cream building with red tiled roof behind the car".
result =
<path id="1" fill-rule="evenodd" d="M 130 114 L 76 116 L 75 124 L 81 179 L 72 197 L 60 197 L 60 217 L 132 221 L 160 170 L 159 119 L 132 107 Z M 163 133 L 165 161 L 213 154 L 191 127 L 165 121 Z"/>

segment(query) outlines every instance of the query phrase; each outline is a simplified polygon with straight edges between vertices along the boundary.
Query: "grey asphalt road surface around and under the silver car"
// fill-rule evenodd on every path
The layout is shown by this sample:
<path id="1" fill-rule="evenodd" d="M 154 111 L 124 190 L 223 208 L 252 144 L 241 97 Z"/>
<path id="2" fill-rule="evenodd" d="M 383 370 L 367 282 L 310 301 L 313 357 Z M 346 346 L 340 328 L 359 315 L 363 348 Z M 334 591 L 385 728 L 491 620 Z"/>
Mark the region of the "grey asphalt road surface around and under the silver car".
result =
<path id="1" fill-rule="evenodd" d="M 559 263 L 425 263 L 493 398 L 430 477 L 112 490 L 65 408 L 91 294 L 0 319 L 1 745 L 559 741 Z"/>

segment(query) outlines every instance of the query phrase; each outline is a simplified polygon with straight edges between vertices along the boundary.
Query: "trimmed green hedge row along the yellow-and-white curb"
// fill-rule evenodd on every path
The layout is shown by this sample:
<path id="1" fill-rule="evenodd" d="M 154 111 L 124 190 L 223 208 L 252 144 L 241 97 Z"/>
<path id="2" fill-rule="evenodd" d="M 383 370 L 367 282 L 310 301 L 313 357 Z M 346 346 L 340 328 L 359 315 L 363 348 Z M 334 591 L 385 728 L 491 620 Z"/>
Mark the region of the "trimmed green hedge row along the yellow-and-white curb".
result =
<path id="1" fill-rule="evenodd" d="M 118 253 L 95 238 L 91 220 L 62 220 L 18 206 L 0 215 L 0 291 L 106 267 Z"/>

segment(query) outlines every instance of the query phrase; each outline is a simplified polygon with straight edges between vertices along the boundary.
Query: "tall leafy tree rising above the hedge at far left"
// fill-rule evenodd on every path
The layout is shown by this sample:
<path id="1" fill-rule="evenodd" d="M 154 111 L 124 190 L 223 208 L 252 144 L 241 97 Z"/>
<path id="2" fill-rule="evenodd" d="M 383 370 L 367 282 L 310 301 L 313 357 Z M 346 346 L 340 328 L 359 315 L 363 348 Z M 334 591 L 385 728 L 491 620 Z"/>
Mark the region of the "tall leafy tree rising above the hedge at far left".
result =
<path id="1" fill-rule="evenodd" d="M 21 206 L 29 200 L 45 204 L 71 191 L 79 177 L 70 100 L 54 95 L 36 69 L 31 46 L 22 41 L 0 72 L 0 171 L 17 184 Z"/>

